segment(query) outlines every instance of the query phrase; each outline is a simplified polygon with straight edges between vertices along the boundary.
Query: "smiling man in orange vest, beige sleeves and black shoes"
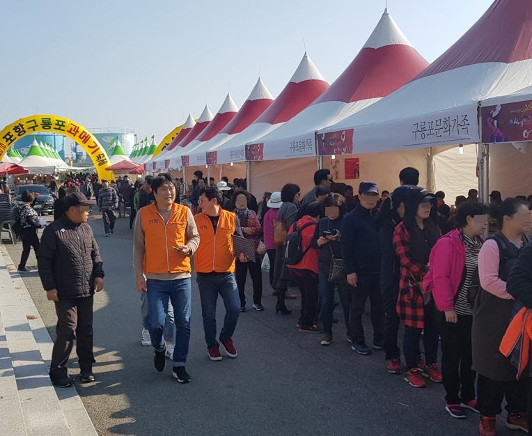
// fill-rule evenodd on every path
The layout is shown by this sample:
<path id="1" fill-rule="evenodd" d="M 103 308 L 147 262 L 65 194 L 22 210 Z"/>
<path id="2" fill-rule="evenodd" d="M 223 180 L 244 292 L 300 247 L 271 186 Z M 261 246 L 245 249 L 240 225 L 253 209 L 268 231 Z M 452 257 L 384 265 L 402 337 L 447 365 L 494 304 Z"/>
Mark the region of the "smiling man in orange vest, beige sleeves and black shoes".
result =
<path id="1" fill-rule="evenodd" d="M 147 293 L 149 330 L 155 348 L 154 365 L 164 371 L 164 321 L 169 300 L 175 322 L 173 377 L 190 381 L 185 370 L 190 341 L 190 256 L 199 245 L 199 235 L 191 211 L 174 203 L 175 182 L 162 173 L 152 180 L 155 203 L 139 209 L 136 215 L 133 267 L 136 288 Z"/>

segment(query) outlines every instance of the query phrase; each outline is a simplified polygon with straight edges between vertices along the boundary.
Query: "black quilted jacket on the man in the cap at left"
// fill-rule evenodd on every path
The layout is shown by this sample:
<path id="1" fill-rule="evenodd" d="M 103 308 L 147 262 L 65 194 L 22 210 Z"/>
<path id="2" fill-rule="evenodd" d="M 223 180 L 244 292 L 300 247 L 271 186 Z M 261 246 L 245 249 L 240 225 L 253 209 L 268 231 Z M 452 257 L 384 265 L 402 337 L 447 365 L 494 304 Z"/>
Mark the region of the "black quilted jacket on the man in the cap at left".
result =
<path id="1" fill-rule="evenodd" d="M 37 251 L 40 281 L 57 289 L 61 299 L 94 294 L 94 278 L 104 277 L 100 249 L 88 224 L 74 224 L 65 215 L 42 233 Z"/>

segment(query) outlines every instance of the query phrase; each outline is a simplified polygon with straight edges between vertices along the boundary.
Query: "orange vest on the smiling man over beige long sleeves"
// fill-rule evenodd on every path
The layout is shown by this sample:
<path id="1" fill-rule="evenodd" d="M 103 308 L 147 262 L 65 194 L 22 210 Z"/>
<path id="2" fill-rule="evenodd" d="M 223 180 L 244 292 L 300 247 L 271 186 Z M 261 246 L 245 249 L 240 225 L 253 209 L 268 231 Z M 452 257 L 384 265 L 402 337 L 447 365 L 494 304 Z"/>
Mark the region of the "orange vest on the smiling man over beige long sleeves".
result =
<path id="1" fill-rule="evenodd" d="M 189 256 L 174 249 L 187 242 L 187 210 L 187 206 L 173 203 L 166 224 L 157 210 L 157 203 L 139 210 L 146 247 L 143 260 L 145 274 L 177 274 L 191 271 Z"/>

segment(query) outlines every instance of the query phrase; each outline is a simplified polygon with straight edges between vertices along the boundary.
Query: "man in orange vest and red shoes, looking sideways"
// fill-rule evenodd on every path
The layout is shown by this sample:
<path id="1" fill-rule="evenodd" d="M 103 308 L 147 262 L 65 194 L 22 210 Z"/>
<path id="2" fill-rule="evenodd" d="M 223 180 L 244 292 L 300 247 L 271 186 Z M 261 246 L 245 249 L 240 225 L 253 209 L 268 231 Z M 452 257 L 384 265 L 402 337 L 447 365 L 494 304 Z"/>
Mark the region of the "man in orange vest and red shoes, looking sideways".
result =
<path id="1" fill-rule="evenodd" d="M 226 317 L 219 340 L 226 354 L 233 359 L 238 352 L 233 344 L 233 333 L 240 313 L 240 297 L 235 280 L 235 255 L 233 254 L 233 233 L 237 229 L 234 212 L 221 208 L 221 192 L 216 187 L 205 187 L 199 192 L 198 203 L 201 213 L 194 216 L 200 235 L 200 244 L 194 256 L 194 271 L 197 274 L 201 298 L 203 330 L 211 360 L 221 360 L 219 343 L 216 339 L 216 303 L 218 294 L 224 300 Z M 240 254 L 240 260 L 247 262 Z"/>

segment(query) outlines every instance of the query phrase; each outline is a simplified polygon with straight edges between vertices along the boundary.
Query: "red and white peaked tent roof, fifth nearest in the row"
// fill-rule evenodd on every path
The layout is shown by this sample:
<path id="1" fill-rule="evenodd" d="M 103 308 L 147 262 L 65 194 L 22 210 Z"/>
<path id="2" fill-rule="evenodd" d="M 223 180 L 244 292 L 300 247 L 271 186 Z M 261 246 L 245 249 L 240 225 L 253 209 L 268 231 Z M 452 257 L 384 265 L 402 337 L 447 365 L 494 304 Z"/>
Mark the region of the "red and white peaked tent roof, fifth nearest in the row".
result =
<path id="1" fill-rule="evenodd" d="M 189 143 L 186 148 L 182 148 L 182 150 L 180 150 L 181 153 L 176 153 L 171 156 L 170 166 L 173 166 L 175 168 L 176 166 L 180 166 L 180 164 L 182 164 L 182 166 L 205 165 L 205 153 L 203 153 L 203 159 L 200 155 L 199 159 L 196 158 L 194 162 L 190 160 L 189 153 L 194 152 L 194 150 L 200 148 L 203 143 L 214 138 L 214 136 L 216 136 L 216 134 L 218 134 L 220 130 L 226 127 L 227 123 L 229 123 L 230 120 L 233 120 L 233 118 L 235 118 L 237 112 L 238 107 L 233 101 L 233 98 L 231 98 L 231 96 L 228 94 L 226 100 L 224 100 L 224 103 L 221 105 L 219 111 L 214 116 L 208 127 L 206 127 L 205 130 L 203 130 L 203 132 L 201 132 L 201 134 L 199 134 L 198 137 L 194 139 L 194 141 L 191 141 L 191 143 Z M 179 162 L 179 159 L 181 159 L 181 162 Z"/>

